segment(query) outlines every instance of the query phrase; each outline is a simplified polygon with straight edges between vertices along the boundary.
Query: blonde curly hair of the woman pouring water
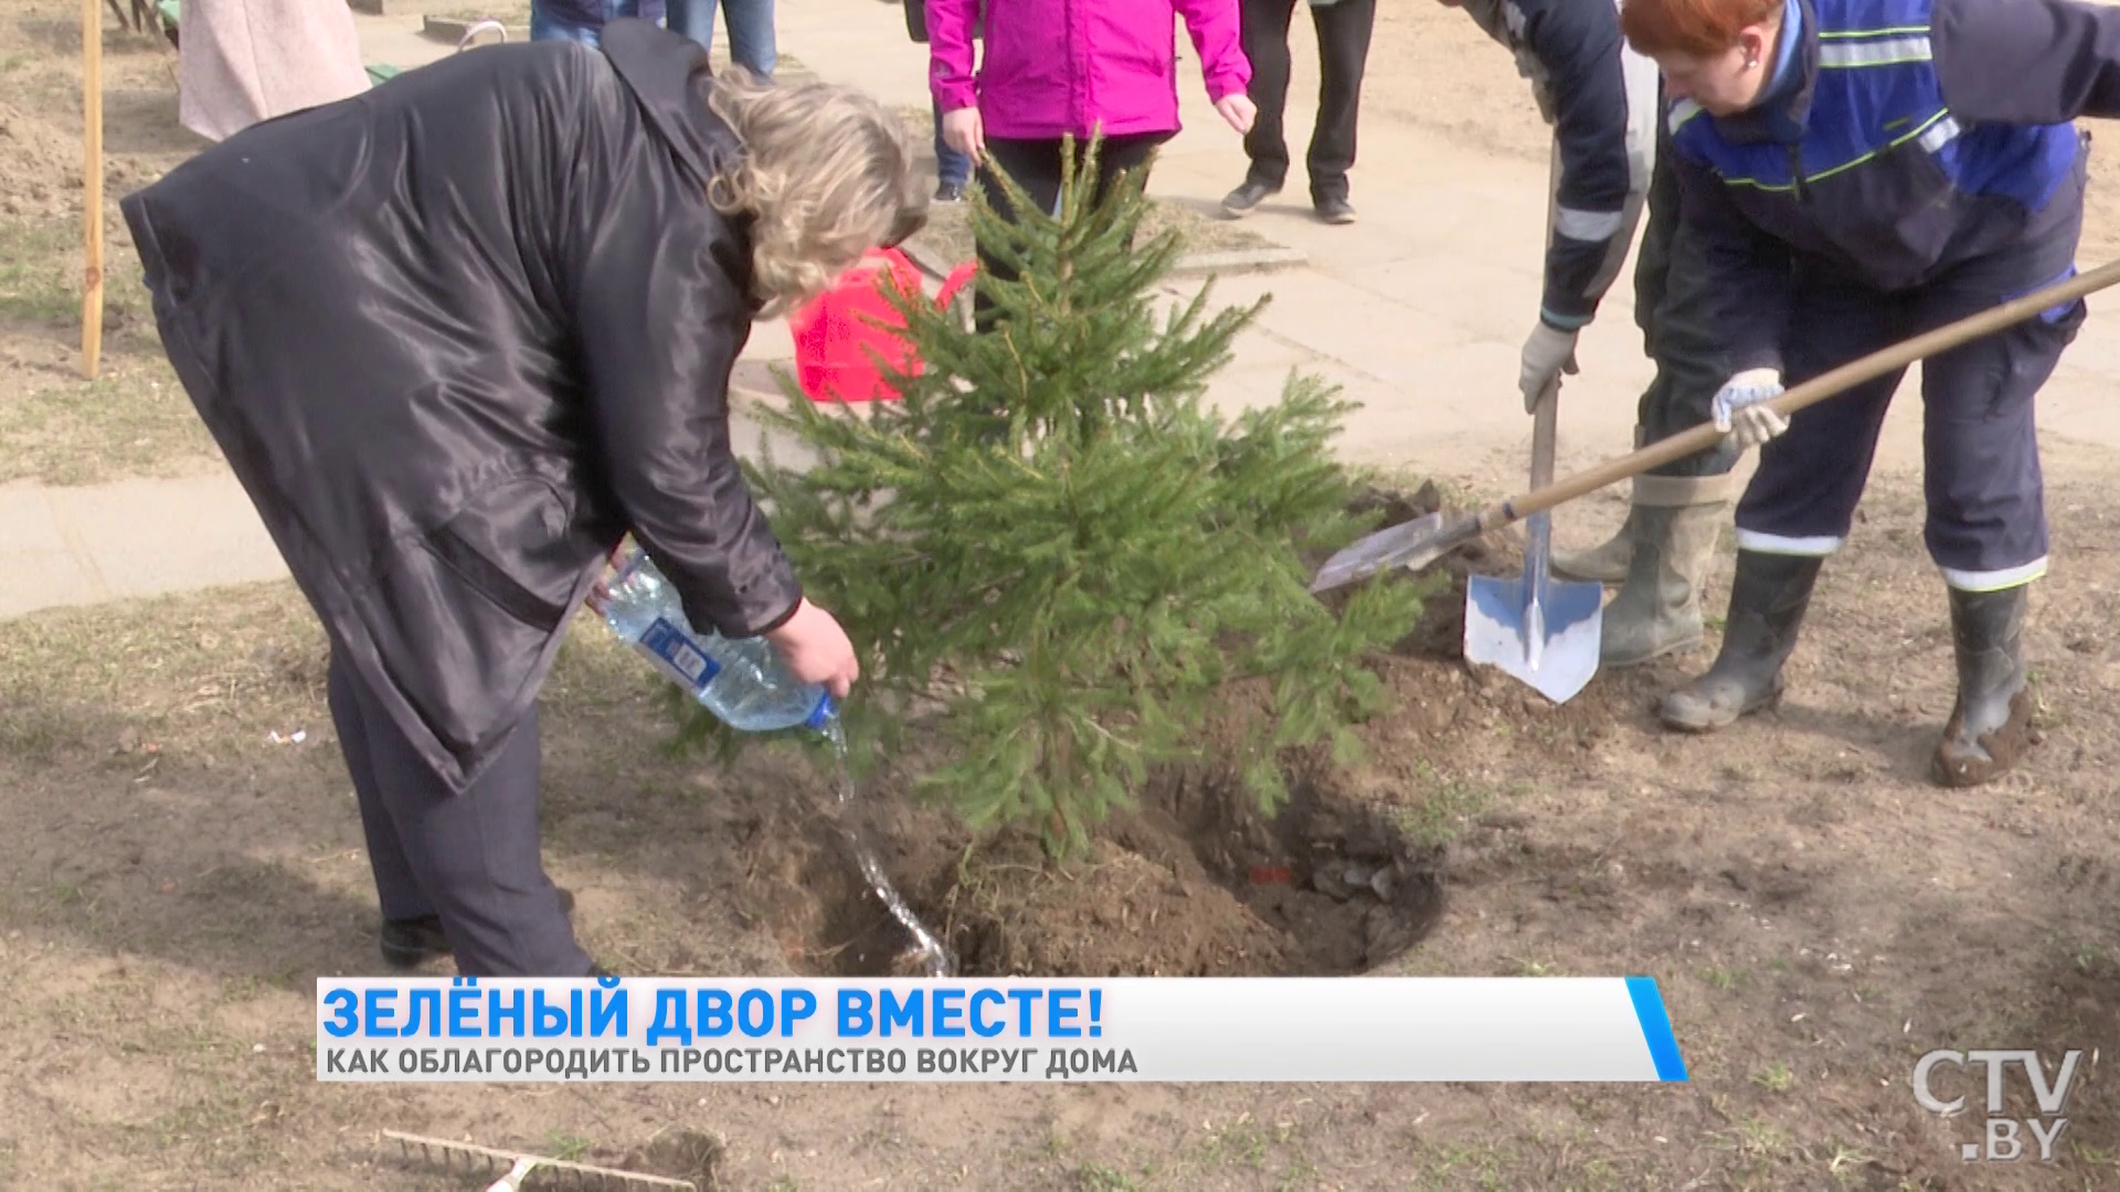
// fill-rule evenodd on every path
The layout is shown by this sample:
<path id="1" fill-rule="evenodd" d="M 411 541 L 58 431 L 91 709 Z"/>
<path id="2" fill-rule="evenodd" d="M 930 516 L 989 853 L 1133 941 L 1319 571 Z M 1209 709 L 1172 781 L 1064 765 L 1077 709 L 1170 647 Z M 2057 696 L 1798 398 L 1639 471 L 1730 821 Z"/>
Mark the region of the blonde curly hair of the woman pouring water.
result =
<path id="1" fill-rule="evenodd" d="M 708 106 L 744 142 L 744 157 L 706 197 L 755 216 L 753 291 L 763 318 L 827 291 L 876 246 L 926 223 L 905 123 L 876 98 L 831 83 L 765 83 L 731 66 Z"/>

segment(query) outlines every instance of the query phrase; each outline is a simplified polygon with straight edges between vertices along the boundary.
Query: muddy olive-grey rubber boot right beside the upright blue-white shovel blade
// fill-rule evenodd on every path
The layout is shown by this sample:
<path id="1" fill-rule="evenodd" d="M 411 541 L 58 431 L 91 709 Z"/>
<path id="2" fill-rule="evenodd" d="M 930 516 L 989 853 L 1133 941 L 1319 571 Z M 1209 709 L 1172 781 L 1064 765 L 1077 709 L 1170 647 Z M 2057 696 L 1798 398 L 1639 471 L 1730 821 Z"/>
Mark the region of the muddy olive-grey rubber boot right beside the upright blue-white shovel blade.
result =
<path id="1" fill-rule="evenodd" d="M 1700 645 L 1700 581 L 1707 579 L 1728 475 L 1645 475 L 1635 481 L 1632 558 L 1626 583 L 1605 604 L 1598 662 L 1641 666 Z"/>

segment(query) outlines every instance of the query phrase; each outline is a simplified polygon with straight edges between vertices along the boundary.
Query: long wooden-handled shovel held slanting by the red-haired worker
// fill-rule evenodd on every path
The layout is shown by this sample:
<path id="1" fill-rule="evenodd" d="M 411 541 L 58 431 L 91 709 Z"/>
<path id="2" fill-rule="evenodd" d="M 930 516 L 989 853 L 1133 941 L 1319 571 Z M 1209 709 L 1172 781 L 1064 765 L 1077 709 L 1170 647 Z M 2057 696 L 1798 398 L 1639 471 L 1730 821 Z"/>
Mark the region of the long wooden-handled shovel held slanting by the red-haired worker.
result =
<path id="1" fill-rule="evenodd" d="M 2099 265 L 2088 274 L 2078 274 L 2044 291 L 2029 293 L 1993 310 L 1982 310 L 1980 314 L 1946 322 L 1936 331 L 1925 331 L 1912 339 L 1893 344 L 1891 348 L 1849 361 L 1830 373 L 1817 375 L 1783 392 L 1781 397 L 1768 401 L 1766 407 L 1787 418 L 1806 405 L 1817 405 L 1819 401 L 1855 388 L 1861 382 L 1904 369 L 1925 356 L 1948 352 L 1950 348 L 1969 344 L 1982 335 L 2001 331 L 2003 327 L 2025 322 L 2039 312 L 2067 305 L 2084 295 L 2103 291 L 2114 282 L 2120 282 L 2120 261 Z M 1333 588 L 1344 588 L 1357 579 L 1367 579 L 1401 566 L 1408 571 L 1420 571 L 1459 543 L 1467 543 L 1503 526 L 1514 526 L 1524 518 L 1545 513 L 1554 505 L 1575 501 L 1577 496 L 1620 484 L 1622 479 L 1632 479 L 1654 467 L 1713 448 L 1721 437 L 1721 431 L 1717 431 L 1713 422 L 1702 422 L 1692 431 L 1681 431 L 1668 439 L 1649 443 L 1639 452 L 1620 456 L 1618 460 L 1579 471 L 1558 484 L 1539 488 L 1537 481 L 1533 481 L 1535 488 L 1531 492 L 1497 501 L 1486 509 L 1452 513 L 1448 518 L 1444 513 L 1429 513 L 1427 518 L 1416 518 L 1412 522 L 1378 530 L 1325 560 L 1325 566 L 1321 566 L 1317 577 L 1310 581 L 1310 592 L 1331 592 Z M 1552 619 L 1554 613 L 1548 611 L 1545 615 Z"/>

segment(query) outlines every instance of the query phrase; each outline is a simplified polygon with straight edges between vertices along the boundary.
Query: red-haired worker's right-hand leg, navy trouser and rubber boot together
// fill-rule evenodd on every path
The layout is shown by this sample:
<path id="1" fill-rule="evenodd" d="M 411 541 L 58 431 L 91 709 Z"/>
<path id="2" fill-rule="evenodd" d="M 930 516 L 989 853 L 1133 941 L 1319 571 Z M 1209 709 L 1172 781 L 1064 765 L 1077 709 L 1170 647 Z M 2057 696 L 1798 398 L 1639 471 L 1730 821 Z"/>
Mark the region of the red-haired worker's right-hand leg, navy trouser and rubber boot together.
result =
<path id="1" fill-rule="evenodd" d="M 2073 250 L 2071 225 L 2048 244 L 1976 261 L 1931 286 L 1923 322 L 2052 284 Z M 1927 545 L 1950 594 L 1957 658 L 1957 702 L 1931 759 L 1944 787 L 1986 783 L 2031 744 L 2022 632 L 2048 551 L 2033 405 L 2084 314 L 2075 301 L 1923 365 Z"/>

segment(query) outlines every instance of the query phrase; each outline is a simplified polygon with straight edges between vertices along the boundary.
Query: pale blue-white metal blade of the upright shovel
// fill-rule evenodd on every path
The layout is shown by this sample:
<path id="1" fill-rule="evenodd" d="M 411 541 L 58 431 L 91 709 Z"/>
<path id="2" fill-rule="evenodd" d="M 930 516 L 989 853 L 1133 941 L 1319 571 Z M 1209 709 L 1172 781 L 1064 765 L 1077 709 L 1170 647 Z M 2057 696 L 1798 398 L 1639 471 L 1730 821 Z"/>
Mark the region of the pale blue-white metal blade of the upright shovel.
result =
<path id="1" fill-rule="evenodd" d="M 1465 662 L 1565 704 L 1596 677 L 1603 619 L 1603 583 L 1476 575 L 1465 583 Z"/>

